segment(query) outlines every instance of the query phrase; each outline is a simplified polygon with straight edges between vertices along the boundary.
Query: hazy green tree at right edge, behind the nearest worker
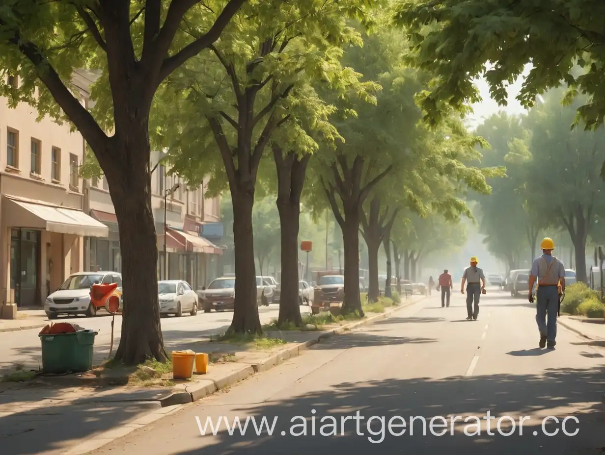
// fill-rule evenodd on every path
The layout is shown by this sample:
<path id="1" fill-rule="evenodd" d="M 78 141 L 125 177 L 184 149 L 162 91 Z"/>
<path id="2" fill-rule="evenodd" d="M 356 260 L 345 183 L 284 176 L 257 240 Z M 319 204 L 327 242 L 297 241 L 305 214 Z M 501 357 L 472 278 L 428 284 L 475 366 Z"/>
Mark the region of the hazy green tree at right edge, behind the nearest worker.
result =
<path id="1" fill-rule="evenodd" d="M 605 131 L 569 131 L 569 122 L 583 99 L 571 106 L 557 103 L 561 91 L 550 92 L 545 102 L 530 112 L 526 123 L 532 131 L 528 202 L 546 228 L 564 227 L 575 248 L 576 277 L 587 282 L 586 240 L 595 227 L 595 214 L 604 213 L 599 178 L 605 160 Z M 567 126 L 567 127 L 566 127 Z"/>

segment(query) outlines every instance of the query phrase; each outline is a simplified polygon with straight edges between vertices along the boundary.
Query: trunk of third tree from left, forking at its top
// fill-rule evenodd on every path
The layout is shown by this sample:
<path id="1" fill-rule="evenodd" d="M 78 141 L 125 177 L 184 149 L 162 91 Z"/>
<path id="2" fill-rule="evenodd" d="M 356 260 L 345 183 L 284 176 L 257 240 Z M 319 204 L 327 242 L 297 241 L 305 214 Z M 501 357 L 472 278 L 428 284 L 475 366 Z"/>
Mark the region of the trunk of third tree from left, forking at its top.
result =
<path id="1" fill-rule="evenodd" d="M 298 158 L 295 152 L 284 157 L 280 147 L 273 145 L 278 179 L 277 208 L 281 226 L 281 295 L 278 325 L 293 323 L 302 326 L 298 295 L 298 231 L 300 198 L 310 155 Z M 309 271 L 306 271 L 309 274 Z"/>

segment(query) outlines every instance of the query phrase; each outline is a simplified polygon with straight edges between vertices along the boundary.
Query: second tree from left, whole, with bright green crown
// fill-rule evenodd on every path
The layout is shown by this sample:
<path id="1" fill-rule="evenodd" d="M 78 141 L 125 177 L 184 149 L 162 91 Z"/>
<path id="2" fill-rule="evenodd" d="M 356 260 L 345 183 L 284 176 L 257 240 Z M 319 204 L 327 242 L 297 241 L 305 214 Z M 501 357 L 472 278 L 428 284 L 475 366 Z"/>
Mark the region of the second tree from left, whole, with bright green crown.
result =
<path id="1" fill-rule="evenodd" d="M 371 5 L 372 2 L 370 2 Z M 213 63 L 192 59 L 171 81 L 181 106 L 169 120 L 179 172 L 191 181 L 214 169 L 227 182 L 234 206 L 235 310 L 228 332 L 262 333 L 256 304 L 252 210 L 258 169 L 272 135 L 290 120 L 290 96 L 309 74 L 329 84 L 341 73 L 338 48 L 355 43 L 347 18 L 365 19 L 368 2 L 280 2 L 238 16 L 231 39 L 212 45 Z M 355 76 L 348 72 L 346 76 Z M 205 118 L 205 122 L 199 122 Z M 209 138 L 214 138 L 210 141 Z M 218 155 L 216 149 L 218 148 Z M 288 150 L 289 151 L 289 150 Z M 217 160 L 220 156 L 222 167 Z M 195 163 L 192 166 L 192 163 Z M 217 173 L 218 171 L 218 173 Z M 298 286 L 297 286 L 298 288 Z"/>

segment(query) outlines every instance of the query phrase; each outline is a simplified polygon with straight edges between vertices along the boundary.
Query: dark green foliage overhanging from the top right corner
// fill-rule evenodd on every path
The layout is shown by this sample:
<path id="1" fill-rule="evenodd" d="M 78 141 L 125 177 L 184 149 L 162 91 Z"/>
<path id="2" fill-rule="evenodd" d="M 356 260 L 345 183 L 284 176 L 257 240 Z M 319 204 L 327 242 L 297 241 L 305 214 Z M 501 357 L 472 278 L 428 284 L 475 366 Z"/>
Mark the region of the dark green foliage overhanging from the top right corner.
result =
<path id="1" fill-rule="evenodd" d="M 604 14 L 599 0 L 401 0 L 394 21 L 410 33 L 414 65 L 436 76 L 420 100 L 427 120 L 438 122 L 443 106 L 465 110 L 466 103 L 479 101 L 472 80 L 482 73 L 492 98 L 505 106 L 505 83 L 531 63 L 520 103 L 531 108 L 537 95 L 564 80 L 567 103 L 589 95 L 575 106 L 586 128 L 594 128 L 605 117 Z M 493 64 L 488 71 L 486 62 Z"/>

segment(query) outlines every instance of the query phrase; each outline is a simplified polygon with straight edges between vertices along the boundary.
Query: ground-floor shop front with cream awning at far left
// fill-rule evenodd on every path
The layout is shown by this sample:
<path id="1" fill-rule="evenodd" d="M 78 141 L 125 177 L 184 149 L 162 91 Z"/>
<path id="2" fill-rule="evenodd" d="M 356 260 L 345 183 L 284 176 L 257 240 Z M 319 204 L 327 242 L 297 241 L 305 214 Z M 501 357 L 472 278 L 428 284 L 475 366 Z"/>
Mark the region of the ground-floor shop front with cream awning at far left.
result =
<path id="1" fill-rule="evenodd" d="M 106 237 L 108 228 L 82 210 L 34 199 L 2 196 L 4 302 L 42 305 L 70 274 L 83 270 L 83 236 Z"/>

